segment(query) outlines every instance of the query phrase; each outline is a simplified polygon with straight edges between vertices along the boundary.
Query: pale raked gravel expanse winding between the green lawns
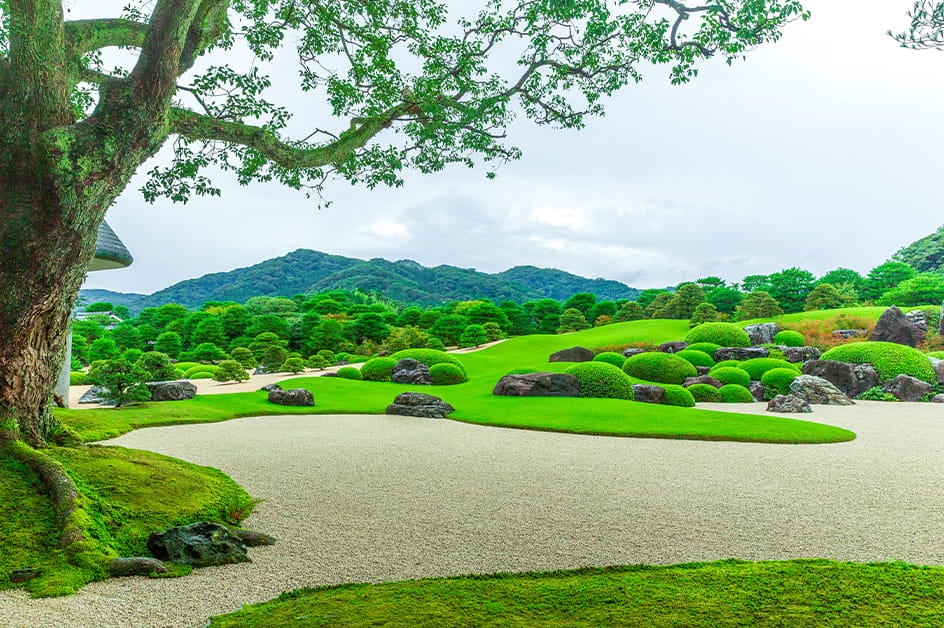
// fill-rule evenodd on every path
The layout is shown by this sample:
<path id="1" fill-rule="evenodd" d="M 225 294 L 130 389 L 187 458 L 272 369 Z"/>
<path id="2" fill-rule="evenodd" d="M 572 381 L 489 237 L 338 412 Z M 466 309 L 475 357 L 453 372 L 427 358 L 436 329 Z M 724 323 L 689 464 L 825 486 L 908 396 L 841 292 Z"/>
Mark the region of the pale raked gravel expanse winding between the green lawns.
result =
<path id="1" fill-rule="evenodd" d="M 139 430 L 111 443 L 222 469 L 265 499 L 248 527 L 279 543 L 185 578 L 114 579 L 56 599 L 0 592 L 0 624 L 196 627 L 298 587 L 586 565 L 944 564 L 944 406 L 860 402 L 804 418 L 858 438 L 609 438 L 391 416 Z"/>

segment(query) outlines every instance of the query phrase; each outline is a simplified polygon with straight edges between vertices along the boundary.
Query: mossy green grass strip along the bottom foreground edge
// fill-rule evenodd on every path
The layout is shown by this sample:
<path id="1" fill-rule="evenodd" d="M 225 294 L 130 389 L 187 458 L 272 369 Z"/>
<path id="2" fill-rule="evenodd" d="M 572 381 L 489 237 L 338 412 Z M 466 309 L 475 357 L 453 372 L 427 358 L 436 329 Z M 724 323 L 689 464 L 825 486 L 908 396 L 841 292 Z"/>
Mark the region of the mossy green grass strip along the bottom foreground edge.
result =
<path id="1" fill-rule="evenodd" d="M 941 567 L 726 560 L 308 589 L 210 626 L 939 626 L 942 599 Z"/>

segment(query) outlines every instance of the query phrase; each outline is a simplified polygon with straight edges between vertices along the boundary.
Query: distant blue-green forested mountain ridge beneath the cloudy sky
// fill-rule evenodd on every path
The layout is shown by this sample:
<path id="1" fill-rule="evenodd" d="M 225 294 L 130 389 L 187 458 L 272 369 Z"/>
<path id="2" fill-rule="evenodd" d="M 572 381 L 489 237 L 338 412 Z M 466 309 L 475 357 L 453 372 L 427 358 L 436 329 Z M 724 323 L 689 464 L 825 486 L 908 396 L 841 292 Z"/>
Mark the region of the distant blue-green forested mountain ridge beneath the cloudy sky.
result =
<path id="1" fill-rule="evenodd" d="M 291 297 L 329 289 L 379 292 L 403 304 L 427 307 L 467 299 L 560 301 L 577 292 L 592 292 L 600 300 L 632 300 L 639 294 L 635 288 L 618 281 L 587 279 L 534 266 L 516 266 L 490 274 L 448 265 L 429 268 L 413 260 L 365 261 L 298 249 L 245 268 L 187 279 L 150 295 L 83 290 L 80 296 L 88 303 L 110 301 L 139 312 L 164 303 L 180 303 L 193 309 L 207 301 L 243 303 L 255 296 Z"/>

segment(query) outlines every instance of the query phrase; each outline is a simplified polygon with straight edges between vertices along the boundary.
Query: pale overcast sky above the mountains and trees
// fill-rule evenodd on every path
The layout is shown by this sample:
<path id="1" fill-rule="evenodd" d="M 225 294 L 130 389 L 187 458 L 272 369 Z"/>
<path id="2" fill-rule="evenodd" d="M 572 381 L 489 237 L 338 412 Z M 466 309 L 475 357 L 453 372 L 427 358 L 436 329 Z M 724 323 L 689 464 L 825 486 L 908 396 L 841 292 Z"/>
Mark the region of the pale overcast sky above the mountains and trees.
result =
<path id="1" fill-rule="evenodd" d="M 151 293 L 298 248 L 637 288 L 791 266 L 865 274 L 944 223 L 944 54 L 885 34 L 911 0 L 805 4 L 812 20 L 777 44 L 687 86 L 653 74 L 583 131 L 516 124 L 524 156 L 495 180 L 456 166 L 394 190 L 338 181 L 326 209 L 226 175 L 222 198 L 148 205 L 135 180 L 107 217 L 134 264 L 85 287 Z"/>

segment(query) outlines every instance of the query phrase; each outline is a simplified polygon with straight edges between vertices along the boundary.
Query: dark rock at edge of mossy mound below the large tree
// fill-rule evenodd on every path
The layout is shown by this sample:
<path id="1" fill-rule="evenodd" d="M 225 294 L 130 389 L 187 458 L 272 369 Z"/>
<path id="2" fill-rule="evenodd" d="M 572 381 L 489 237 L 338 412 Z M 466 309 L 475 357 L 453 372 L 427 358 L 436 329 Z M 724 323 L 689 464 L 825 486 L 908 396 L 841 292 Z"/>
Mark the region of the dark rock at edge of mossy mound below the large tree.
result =
<path id="1" fill-rule="evenodd" d="M 208 521 L 154 532 L 148 550 L 158 560 L 194 567 L 249 562 L 245 543 L 225 526 Z"/>

